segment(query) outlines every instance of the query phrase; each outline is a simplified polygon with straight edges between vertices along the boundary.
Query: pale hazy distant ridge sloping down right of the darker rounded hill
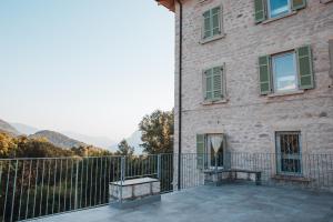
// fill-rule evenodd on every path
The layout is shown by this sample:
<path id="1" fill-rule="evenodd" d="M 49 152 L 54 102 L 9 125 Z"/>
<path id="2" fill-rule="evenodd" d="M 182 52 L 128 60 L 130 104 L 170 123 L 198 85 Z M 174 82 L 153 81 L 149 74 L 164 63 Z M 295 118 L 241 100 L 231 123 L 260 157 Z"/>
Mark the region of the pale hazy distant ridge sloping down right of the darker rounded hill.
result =
<path id="1" fill-rule="evenodd" d="M 62 132 L 63 134 L 74 139 L 82 141 L 87 144 L 91 144 L 98 148 L 103 148 L 108 149 L 111 144 L 114 144 L 115 142 L 107 137 L 90 137 L 90 135 L 84 135 L 80 134 L 77 132 Z"/>

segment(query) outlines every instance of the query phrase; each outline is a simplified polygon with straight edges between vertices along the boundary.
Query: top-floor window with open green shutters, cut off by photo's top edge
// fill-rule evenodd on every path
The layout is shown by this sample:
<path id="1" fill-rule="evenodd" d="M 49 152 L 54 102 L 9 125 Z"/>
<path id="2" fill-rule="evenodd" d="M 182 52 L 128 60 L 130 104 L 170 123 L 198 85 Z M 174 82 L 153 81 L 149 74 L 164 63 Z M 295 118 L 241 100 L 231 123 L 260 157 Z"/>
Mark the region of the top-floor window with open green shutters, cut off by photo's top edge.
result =
<path id="1" fill-rule="evenodd" d="M 280 18 L 306 7 L 306 0 L 254 0 L 255 22 Z"/>

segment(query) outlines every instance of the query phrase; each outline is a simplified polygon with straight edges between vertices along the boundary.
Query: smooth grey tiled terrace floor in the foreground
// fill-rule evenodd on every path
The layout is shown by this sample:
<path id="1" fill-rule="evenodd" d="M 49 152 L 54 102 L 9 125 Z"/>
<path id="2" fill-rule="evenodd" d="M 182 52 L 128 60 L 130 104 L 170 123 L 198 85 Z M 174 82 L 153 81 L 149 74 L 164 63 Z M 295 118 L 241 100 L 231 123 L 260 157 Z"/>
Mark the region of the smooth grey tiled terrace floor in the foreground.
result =
<path id="1" fill-rule="evenodd" d="M 52 222 L 333 222 L 333 194 L 248 184 L 199 186 L 135 209 L 101 206 L 40 219 Z"/>

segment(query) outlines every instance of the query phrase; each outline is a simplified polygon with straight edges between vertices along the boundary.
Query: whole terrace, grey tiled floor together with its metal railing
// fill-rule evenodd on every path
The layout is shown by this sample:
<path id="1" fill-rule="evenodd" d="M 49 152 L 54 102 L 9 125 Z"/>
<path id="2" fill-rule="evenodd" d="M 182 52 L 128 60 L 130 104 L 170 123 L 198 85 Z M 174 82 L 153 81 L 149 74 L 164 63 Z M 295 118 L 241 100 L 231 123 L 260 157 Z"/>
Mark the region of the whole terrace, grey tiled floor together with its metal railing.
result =
<path id="1" fill-rule="evenodd" d="M 188 153 L 180 159 L 180 176 L 178 154 L 2 159 L 0 221 L 153 221 L 157 216 L 159 221 L 329 221 L 333 216 L 333 154 L 294 160 L 272 153 L 225 153 L 216 161 Z M 236 180 L 226 173 L 216 186 L 205 176 L 208 169 L 243 171 Z M 261 172 L 261 185 L 244 171 Z M 110 183 L 140 178 L 159 181 L 161 202 L 128 210 L 109 206 L 123 200 L 110 198 Z"/>

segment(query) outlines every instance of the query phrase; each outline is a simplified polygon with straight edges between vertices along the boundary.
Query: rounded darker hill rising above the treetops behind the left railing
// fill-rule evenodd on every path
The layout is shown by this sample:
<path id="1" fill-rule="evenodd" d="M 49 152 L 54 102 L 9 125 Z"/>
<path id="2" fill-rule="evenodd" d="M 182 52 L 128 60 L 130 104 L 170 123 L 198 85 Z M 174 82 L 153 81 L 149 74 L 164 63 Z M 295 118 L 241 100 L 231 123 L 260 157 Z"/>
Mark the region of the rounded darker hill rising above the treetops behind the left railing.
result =
<path id="1" fill-rule="evenodd" d="M 63 148 L 63 149 L 87 145 L 83 142 L 73 140 L 64 134 L 61 134 L 61 133 L 54 132 L 54 131 L 49 131 L 49 130 L 39 131 L 34 134 L 29 135 L 29 138 L 34 138 L 34 139 L 46 138 L 46 139 L 48 139 L 49 142 L 51 142 L 56 147 Z"/>

